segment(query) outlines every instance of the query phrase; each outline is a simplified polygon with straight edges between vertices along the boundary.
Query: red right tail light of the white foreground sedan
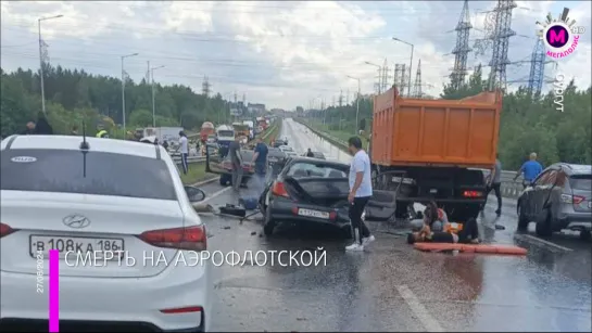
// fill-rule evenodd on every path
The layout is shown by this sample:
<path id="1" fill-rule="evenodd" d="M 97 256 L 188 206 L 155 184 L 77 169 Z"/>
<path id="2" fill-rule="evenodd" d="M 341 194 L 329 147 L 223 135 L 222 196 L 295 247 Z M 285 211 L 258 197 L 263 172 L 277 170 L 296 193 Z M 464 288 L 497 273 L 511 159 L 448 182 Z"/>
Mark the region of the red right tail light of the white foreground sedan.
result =
<path id="1" fill-rule="evenodd" d="M 207 235 L 204 226 L 146 231 L 139 239 L 158 247 L 204 251 Z"/>

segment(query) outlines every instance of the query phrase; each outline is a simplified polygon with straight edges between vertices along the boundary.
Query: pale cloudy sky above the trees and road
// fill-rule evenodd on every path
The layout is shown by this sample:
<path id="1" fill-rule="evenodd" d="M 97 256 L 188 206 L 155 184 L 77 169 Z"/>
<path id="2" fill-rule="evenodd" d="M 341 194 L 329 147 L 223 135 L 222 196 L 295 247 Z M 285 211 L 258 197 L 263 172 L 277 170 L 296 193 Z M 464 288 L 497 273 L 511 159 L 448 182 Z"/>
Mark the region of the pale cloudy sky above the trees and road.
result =
<path id="1" fill-rule="evenodd" d="M 469 1 L 477 28 L 471 40 L 483 36 L 482 12 L 495 3 Z M 536 22 L 547 12 L 556 17 L 567 7 L 587 31 L 577 52 L 556 67 L 549 64 L 546 76 L 552 80 L 558 71 L 590 86 L 590 1 L 516 3 L 512 28 L 517 36 L 511 39 L 509 60 L 529 60 Z M 307 107 L 313 99 L 331 103 L 341 89 L 343 94 L 349 89 L 351 99 L 357 82 L 348 76 L 361 78 L 363 93 L 373 92 L 376 68 L 364 62 L 382 64 L 386 57 L 391 75 L 394 63 L 410 62 L 411 48 L 391 40 L 394 36 L 415 44 L 412 78 L 420 59 L 423 90 L 437 95 L 454 63 L 451 30 L 462 7 L 463 1 L 2 1 L 1 66 L 37 69 L 37 18 L 61 14 L 42 23 L 53 65 L 121 77 L 121 55 L 138 52 L 125 62 L 136 81 L 146 76 L 150 61 L 165 66 L 154 72 L 161 84 L 201 91 L 207 76 L 212 90 L 225 98 L 237 92 L 239 100 L 245 94 L 251 103 L 293 110 Z M 469 54 L 469 66 L 487 65 L 490 54 Z M 529 67 L 508 66 L 508 81 L 528 79 Z"/>

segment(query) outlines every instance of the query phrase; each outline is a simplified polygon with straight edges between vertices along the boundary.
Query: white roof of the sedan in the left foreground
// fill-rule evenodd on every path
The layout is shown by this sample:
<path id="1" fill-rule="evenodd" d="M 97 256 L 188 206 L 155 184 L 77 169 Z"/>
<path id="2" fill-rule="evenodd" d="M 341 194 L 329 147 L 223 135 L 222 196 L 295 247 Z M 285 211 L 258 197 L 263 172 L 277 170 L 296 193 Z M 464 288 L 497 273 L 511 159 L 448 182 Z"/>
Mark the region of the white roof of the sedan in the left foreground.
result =
<path id="1" fill-rule="evenodd" d="M 136 155 L 156 158 L 156 149 L 160 145 L 146 144 L 143 142 L 126 141 L 117 139 L 103 139 L 87 137 L 89 151 Z M 11 136 L 2 140 L 1 150 L 11 149 L 38 149 L 38 150 L 73 150 L 80 149 L 83 137 L 79 136 Z M 165 153 L 164 149 L 162 151 Z"/>

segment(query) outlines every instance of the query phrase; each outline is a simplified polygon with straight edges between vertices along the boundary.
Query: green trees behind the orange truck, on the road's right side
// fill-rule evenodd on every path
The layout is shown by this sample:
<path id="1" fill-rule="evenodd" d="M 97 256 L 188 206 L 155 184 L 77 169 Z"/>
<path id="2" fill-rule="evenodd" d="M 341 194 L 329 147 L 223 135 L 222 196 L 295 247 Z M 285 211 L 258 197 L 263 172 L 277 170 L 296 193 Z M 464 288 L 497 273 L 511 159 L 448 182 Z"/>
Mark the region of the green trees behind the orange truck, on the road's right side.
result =
<path id="1" fill-rule="evenodd" d="M 459 89 L 444 85 L 441 98 L 463 99 L 486 88 L 487 80 L 479 66 Z M 544 166 L 556 162 L 592 164 L 592 88 L 578 89 L 571 80 L 563 90 L 563 112 L 557 110 L 554 91 L 539 95 L 520 87 L 504 94 L 497 144 L 504 169 L 519 168 L 531 152 L 539 154 Z M 360 119 L 366 119 L 366 130 L 371 125 L 371 99 L 362 98 Z M 317 121 L 325 121 L 330 130 L 353 133 L 356 129 L 355 113 L 354 100 L 349 105 L 330 106 L 313 116 Z"/>

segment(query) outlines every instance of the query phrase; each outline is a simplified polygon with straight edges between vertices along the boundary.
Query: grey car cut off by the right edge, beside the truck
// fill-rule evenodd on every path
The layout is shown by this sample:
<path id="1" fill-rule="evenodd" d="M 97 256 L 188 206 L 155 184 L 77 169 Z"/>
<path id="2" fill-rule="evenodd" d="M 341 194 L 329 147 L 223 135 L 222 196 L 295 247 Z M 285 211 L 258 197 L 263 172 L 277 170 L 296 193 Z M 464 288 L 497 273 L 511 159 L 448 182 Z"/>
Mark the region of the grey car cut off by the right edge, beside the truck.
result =
<path id="1" fill-rule="evenodd" d="M 534 221 L 540 236 L 570 229 L 590 238 L 591 191 L 592 166 L 557 163 L 547 167 L 518 198 L 518 230 Z"/>

